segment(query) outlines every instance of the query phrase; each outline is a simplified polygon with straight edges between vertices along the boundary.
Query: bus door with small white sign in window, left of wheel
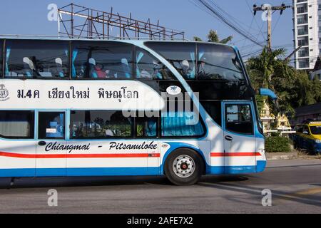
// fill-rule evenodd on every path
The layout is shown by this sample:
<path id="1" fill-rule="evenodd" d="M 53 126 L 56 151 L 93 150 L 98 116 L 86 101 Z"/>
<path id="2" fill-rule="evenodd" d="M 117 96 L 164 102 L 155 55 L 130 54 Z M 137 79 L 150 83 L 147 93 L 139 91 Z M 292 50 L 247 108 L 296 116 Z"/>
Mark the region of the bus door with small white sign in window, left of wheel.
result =
<path id="1" fill-rule="evenodd" d="M 66 111 L 38 111 L 36 176 L 66 176 Z"/>

